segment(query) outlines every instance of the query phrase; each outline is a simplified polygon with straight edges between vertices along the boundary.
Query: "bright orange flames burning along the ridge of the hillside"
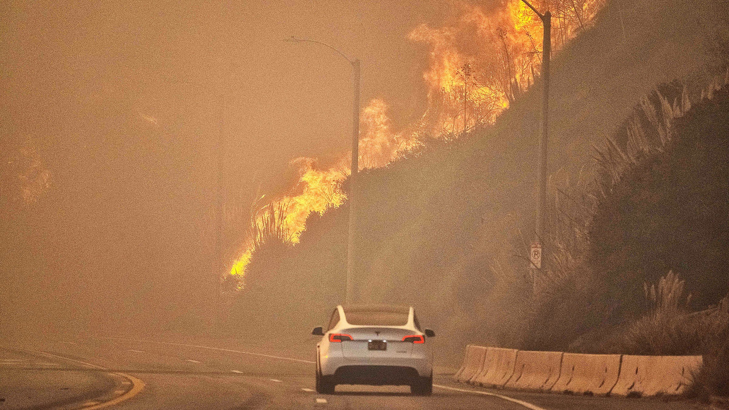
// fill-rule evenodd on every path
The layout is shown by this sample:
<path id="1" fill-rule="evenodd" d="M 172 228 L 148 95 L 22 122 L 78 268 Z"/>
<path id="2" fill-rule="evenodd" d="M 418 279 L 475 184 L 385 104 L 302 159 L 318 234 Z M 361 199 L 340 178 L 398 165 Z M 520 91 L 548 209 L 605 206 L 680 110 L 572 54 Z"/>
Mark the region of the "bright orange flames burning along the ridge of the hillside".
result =
<path id="1" fill-rule="evenodd" d="M 587 28 L 604 0 L 535 3 L 553 13 L 553 50 L 559 50 Z M 537 80 L 541 61 L 542 22 L 521 0 L 485 9 L 458 5 L 459 15 L 446 26 L 421 24 L 409 39 L 426 45 L 429 69 L 423 74 L 428 106 L 413 124 L 391 123 L 388 104 L 375 98 L 362 109 L 359 166 L 381 168 L 428 139 L 454 139 L 482 125 L 494 123 Z M 245 251 L 230 273 L 242 276 L 256 244 L 273 232 L 278 239 L 296 244 L 311 212 L 323 214 L 346 200 L 341 184 L 350 174 L 348 155 L 338 165 L 317 169 L 313 158 L 297 158 L 296 187 L 268 204 L 254 204 Z M 275 226 L 274 226 L 275 225 Z"/>

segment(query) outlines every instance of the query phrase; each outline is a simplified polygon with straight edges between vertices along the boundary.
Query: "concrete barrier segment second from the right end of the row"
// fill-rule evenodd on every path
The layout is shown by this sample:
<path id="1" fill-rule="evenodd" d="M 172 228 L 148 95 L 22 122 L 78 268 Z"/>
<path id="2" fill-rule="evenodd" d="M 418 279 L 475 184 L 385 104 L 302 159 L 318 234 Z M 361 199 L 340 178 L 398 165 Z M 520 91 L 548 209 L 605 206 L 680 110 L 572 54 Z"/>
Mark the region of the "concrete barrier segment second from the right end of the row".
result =
<path id="1" fill-rule="evenodd" d="M 620 374 L 620 355 L 564 353 L 553 392 L 607 395 Z"/>

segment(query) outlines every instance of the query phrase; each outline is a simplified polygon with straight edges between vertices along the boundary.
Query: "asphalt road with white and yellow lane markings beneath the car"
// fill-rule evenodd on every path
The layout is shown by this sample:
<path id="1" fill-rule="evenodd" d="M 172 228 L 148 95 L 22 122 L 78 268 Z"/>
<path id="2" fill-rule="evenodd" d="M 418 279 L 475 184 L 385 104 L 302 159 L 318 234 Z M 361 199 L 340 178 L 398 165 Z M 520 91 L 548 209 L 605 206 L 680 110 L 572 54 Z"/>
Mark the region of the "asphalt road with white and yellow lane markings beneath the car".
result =
<path id="1" fill-rule="evenodd" d="M 313 391 L 313 347 L 48 336 L 0 341 L 5 409 L 693 409 L 687 401 L 477 389 L 437 368 L 433 395 L 408 387 Z M 454 367 L 456 363 L 453 363 Z M 2 400 L 4 399 L 4 401 Z"/>

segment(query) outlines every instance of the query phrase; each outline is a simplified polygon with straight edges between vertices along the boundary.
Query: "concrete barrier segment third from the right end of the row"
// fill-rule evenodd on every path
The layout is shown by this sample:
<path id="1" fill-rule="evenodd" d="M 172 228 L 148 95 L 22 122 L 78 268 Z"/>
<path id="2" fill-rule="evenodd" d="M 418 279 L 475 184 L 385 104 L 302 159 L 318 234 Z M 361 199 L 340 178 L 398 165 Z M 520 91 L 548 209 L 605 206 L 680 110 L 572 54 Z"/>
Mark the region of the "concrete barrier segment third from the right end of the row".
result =
<path id="1" fill-rule="evenodd" d="M 514 374 L 504 387 L 527 390 L 550 390 L 559 379 L 562 352 L 516 353 Z"/>

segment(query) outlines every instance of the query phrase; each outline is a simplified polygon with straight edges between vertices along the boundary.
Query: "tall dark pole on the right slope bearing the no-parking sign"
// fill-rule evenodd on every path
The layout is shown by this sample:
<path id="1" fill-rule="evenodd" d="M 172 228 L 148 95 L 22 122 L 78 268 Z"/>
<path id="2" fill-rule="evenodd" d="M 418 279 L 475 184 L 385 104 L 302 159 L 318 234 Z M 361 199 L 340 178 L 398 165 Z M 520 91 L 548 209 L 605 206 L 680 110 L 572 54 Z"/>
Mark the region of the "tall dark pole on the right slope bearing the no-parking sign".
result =
<path id="1" fill-rule="evenodd" d="M 552 55 L 552 13 L 547 10 L 544 14 L 537 11 L 529 1 L 521 0 L 529 6 L 529 8 L 537 13 L 539 19 L 542 20 L 544 26 L 544 36 L 542 38 L 542 138 L 539 140 L 539 207 L 537 215 L 537 246 L 539 247 L 539 263 L 532 265 L 536 268 L 544 269 L 545 264 L 542 262 L 543 254 L 542 244 L 545 237 L 546 229 L 546 211 L 547 211 L 547 141 L 549 137 L 549 80 L 550 80 L 550 58 Z M 532 252 L 533 254 L 534 252 Z"/>

